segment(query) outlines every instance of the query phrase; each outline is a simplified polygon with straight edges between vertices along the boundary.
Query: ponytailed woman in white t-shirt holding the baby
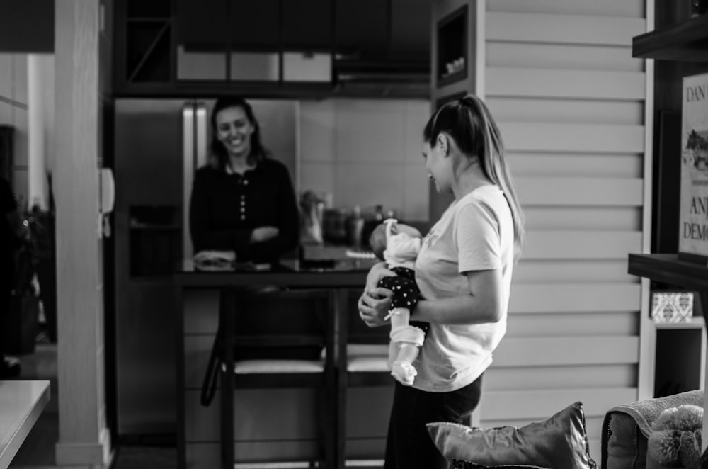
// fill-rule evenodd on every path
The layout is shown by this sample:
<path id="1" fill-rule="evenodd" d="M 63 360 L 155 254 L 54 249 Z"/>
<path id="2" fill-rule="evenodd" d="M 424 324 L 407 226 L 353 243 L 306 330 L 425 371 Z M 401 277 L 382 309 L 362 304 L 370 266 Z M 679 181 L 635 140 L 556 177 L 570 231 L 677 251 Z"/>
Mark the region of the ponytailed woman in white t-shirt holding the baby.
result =
<path id="1" fill-rule="evenodd" d="M 455 200 L 421 242 L 415 280 L 421 300 L 410 320 L 428 324 L 413 361 L 412 385 L 396 382 L 386 469 L 446 468 L 428 436 L 430 422 L 464 422 L 481 396 L 482 375 L 506 332 L 513 266 L 523 245 L 523 213 L 501 134 L 481 99 L 441 106 L 423 130 L 428 177 Z M 367 276 L 358 302 L 370 327 L 389 324 L 396 273 L 384 262 Z"/>

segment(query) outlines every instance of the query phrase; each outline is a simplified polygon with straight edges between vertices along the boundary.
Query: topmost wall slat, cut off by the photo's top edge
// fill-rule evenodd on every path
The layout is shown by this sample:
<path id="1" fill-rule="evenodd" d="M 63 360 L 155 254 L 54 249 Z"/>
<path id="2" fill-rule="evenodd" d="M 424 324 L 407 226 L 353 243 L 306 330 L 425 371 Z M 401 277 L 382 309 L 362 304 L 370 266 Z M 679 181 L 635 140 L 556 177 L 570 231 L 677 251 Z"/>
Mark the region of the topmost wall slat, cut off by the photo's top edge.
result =
<path id="1" fill-rule="evenodd" d="M 487 11 L 644 17 L 643 0 L 486 0 Z"/>

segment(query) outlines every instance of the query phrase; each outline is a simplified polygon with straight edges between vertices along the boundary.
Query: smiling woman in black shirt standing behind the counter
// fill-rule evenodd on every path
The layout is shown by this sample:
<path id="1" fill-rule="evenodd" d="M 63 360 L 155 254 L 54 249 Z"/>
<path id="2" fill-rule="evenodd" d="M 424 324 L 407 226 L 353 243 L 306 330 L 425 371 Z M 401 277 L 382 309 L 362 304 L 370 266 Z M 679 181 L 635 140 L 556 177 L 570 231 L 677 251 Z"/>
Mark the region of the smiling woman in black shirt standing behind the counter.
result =
<path id="1" fill-rule="evenodd" d="M 236 261 L 269 262 L 297 246 L 295 191 L 285 164 L 270 157 L 251 105 L 220 98 L 212 110 L 210 162 L 190 198 L 194 251 L 229 251 Z"/>

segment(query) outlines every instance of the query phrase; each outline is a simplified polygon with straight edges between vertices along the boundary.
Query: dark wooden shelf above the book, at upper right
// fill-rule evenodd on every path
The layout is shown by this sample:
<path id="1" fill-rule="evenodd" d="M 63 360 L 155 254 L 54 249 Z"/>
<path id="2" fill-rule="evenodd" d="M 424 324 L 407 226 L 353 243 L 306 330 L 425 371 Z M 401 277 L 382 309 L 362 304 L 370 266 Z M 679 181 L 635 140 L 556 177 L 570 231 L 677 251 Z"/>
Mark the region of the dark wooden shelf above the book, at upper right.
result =
<path id="1" fill-rule="evenodd" d="M 708 14 L 635 36 L 632 57 L 708 62 Z"/>

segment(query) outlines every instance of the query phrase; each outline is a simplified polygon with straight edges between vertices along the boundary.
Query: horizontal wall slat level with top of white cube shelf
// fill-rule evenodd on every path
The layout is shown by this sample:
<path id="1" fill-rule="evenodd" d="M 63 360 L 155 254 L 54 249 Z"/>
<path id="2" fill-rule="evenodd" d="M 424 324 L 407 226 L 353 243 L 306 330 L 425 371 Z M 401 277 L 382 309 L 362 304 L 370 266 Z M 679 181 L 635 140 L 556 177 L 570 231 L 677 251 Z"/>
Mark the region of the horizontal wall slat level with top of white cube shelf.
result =
<path id="1" fill-rule="evenodd" d="M 636 336 L 636 312 L 513 315 L 506 337 Z"/>

